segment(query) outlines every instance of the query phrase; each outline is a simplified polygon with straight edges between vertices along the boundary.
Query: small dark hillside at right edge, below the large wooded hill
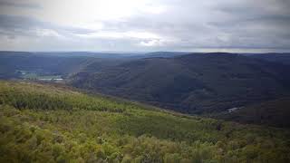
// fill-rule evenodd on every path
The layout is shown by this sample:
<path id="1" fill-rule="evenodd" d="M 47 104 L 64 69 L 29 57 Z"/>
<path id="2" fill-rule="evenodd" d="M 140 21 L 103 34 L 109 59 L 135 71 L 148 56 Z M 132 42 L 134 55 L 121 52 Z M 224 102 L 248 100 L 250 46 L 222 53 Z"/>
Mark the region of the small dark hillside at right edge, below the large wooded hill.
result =
<path id="1" fill-rule="evenodd" d="M 290 128 L 290 98 L 265 101 L 259 104 L 219 114 L 219 119 Z"/>

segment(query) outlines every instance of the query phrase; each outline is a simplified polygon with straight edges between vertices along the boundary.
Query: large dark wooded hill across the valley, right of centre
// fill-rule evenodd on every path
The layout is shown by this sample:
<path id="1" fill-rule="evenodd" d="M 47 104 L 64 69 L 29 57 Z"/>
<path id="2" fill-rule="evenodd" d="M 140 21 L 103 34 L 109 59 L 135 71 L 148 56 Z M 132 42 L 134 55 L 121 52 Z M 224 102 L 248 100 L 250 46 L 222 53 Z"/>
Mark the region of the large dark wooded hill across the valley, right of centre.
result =
<path id="1" fill-rule="evenodd" d="M 232 53 L 195 53 L 82 71 L 73 86 L 189 113 L 219 112 L 289 94 L 290 67 Z"/>

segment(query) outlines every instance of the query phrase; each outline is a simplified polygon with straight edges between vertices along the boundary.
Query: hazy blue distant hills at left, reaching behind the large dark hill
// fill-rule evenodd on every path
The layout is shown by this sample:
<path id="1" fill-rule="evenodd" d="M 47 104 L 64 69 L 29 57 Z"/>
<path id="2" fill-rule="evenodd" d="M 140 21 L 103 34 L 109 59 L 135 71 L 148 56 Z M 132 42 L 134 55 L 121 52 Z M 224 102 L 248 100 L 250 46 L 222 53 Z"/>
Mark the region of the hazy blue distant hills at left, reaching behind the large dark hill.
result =
<path id="1" fill-rule="evenodd" d="M 100 71 L 121 62 L 152 57 L 174 57 L 185 53 L 92 53 L 92 52 L 5 52 L 0 51 L 0 79 L 17 78 L 17 71 L 37 71 L 70 75 Z"/>

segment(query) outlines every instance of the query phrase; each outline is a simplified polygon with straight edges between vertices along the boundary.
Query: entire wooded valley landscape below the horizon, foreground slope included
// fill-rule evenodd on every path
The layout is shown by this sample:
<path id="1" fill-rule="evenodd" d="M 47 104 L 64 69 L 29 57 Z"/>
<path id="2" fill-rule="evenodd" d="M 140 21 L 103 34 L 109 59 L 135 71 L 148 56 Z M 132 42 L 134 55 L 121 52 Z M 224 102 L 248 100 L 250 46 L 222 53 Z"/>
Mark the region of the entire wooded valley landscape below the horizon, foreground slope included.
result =
<path id="1" fill-rule="evenodd" d="M 290 161 L 287 64 L 154 54 L 0 55 L 0 161 Z"/>

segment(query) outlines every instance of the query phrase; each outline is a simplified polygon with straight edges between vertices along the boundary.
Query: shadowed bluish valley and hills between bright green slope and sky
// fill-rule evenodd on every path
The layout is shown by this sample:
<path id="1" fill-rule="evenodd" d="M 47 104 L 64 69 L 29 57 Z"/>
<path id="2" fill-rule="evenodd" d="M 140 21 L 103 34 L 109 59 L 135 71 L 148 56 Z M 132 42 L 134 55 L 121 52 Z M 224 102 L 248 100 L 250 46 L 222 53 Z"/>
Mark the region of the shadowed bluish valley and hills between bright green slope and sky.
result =
<path id="1" fill-rule="evenodd" d="M 269 57 L 235 53 L 2 52 L 0 76 L 8 80 L 62 82 L 92 93 L 224 119 L 220 114 L 232 108 L 290 97 L 287 57 L 284 53 Z M 236 120 L 237 116 L 226 117 Z"/>

